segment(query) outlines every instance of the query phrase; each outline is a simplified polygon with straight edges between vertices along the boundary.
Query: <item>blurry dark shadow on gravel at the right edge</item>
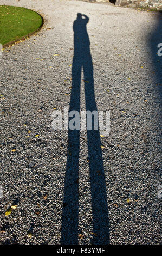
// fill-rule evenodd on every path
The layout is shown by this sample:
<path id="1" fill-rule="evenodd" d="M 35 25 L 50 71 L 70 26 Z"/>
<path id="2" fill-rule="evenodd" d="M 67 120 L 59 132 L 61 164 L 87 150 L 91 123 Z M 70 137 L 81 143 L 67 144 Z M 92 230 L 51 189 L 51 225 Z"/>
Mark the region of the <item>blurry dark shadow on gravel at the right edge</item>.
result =
<path id="1" fill-rule="evenodd" d="M 148 37 L 148 47 L 151 49 L 151 61 L 152 68 L 155 72 L 155 89 L 158 96 L 162 93 L 162 56 L 158 56 L 158 53 L 162 54 L 162 14 L 156 13 L 157 22 L 152 29 L 151 35 Z M 158 48 L 158 44 L 161 43 L 161 50 Z M 158 51 L 159 50 L 159 51 Z M 160 113 L 159 113 L 160 114 Z"/>

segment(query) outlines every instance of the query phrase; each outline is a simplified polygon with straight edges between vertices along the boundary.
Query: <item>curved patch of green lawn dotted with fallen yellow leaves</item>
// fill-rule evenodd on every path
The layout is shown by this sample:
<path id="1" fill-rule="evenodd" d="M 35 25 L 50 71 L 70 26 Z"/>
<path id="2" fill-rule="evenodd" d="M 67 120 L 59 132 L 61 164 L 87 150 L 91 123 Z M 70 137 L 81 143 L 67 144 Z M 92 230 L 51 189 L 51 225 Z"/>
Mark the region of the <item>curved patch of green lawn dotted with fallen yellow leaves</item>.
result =
<path id="1" fill-rule="evenodd" d="M 29 35 L 42 25 L 42 17 L 35 11 L 0 5 L 0 43 L 5 45 Z"/>

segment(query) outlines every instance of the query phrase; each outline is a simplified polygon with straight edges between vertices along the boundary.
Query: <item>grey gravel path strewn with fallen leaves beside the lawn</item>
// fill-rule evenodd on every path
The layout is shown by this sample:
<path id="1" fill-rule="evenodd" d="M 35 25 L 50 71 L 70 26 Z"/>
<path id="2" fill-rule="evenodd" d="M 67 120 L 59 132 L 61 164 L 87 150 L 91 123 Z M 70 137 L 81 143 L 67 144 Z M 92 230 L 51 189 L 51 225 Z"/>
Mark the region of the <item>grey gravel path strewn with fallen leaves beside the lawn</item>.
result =
<path id="1" fill-rule="evenodd" d="M 36 36 L 0 58 L 1 244 L 160 243 L 161 15 L 73 0 L 0 4 L 44 17 Z M 54 108 L 75 106 L 79 96 L 69 94 L 77 13 L 89 17 L 86 107 L 111 111 L 111 132 L 101 138 L 51 129 Z M 86 90 L 82 81 L 80 110 Z"/>

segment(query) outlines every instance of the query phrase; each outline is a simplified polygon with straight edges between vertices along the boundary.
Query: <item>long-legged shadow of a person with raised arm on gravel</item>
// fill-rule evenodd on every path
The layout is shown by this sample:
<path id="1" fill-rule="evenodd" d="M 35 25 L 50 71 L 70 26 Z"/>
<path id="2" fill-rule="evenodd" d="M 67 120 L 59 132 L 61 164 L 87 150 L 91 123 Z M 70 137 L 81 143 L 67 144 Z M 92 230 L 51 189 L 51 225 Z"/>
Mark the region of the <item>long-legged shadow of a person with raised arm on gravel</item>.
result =
<path id="1" fill-rule="evenodd" d="M 70 97 L 69 111 L 75 110 L 80 112 L 82 68 L 85 80 L 86 111 L 97 111 L 94 94 L 93 63 L 90 55 L 90 41 L 86 28 L 88 21 L 89 18 L 86 15 L 79 13 L 77 14 L 77 19 L 73 23 L 74 57 L 72 67 L 72 92 Z M 69 118 L 69 121 L 70 120 L 71 118 Z M 93 121 L 92 130 L 87 130 L 89 176 L 93 213 L 93 230 L 89 230 L 89 233 L 93 232 L 93 239 L 91 241 L 92 244 L 103 245 L 109 243 L 107 194 L 100 133 L 99 130 L 93 130 Z M 61 244 L 64 245 L 76 245 L 78 243 L 79 151 L 80 131 L 69 129 L 60 239 Z"/>

